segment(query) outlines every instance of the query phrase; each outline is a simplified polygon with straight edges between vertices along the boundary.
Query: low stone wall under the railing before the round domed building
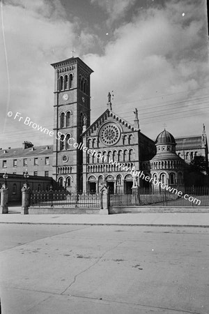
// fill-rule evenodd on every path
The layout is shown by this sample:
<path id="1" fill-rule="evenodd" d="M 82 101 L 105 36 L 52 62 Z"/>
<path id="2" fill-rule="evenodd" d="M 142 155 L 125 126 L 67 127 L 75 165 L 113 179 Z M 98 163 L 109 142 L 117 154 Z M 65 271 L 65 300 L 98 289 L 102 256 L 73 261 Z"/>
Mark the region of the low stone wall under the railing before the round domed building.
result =
<path id="1" fill-rule="evenodd" d="M 111 207 L 109 214 L 125 213 L 209 213 L 208 207 L 169 207 L 169 206 L 130 206 L 130 207 Z"/>

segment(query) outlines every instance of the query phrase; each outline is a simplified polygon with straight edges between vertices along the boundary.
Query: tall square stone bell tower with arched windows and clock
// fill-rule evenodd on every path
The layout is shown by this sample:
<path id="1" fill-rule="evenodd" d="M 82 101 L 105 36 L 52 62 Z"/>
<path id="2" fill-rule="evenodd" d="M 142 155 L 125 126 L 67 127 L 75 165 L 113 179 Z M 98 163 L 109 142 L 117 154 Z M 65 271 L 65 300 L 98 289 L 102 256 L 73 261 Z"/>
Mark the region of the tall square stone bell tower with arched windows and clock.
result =
<path id="1" fill-rule="evenodd" d="M 54 179 L 67 190 L 82 188 L 82 127 L 90 125 L 90 75 L 79 57 L 52 64 L 54 68 Z M 78 144 L 78 145 L 77 145 Z"/>

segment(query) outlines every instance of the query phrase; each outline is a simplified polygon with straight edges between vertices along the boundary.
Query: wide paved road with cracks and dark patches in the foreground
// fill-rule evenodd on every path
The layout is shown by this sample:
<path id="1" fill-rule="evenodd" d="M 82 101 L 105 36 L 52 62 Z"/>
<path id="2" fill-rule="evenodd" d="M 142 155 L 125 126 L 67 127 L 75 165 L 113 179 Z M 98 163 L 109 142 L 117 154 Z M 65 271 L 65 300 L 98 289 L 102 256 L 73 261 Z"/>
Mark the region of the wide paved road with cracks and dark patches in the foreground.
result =
<path id="1" fill-rule="evenodd" d="M 209 230 L 1 224 L 3 314 L 209 313 Z"/>

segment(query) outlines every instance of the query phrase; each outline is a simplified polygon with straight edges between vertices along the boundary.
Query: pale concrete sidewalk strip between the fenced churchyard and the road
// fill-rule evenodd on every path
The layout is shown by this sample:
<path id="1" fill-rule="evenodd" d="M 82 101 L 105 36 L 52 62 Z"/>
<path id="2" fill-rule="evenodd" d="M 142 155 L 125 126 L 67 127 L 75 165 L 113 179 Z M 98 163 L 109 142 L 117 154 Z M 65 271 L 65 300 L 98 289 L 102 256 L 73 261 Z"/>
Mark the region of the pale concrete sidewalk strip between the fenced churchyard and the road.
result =
<path id="1" fill-rule="evenodd" d="M 0 215 L 0 223 L 49 225 L 154 225 L 209 227 L 208 213 L 136 213 L 136 214 L 35 214 L 22 215 L 20 207 L 10 207 Z"/>

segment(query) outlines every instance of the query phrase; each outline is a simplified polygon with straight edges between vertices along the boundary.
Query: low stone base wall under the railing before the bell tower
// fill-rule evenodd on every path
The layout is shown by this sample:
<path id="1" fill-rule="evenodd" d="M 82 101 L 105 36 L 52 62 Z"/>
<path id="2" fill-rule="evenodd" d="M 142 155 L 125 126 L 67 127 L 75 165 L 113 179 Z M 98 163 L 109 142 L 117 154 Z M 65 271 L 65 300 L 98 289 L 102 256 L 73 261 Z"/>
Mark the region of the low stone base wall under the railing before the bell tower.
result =
<path id="1" fill-rule="evenodd" d="M 100 214 L 99 208 L 29 207 L 29 214 Z"/>

